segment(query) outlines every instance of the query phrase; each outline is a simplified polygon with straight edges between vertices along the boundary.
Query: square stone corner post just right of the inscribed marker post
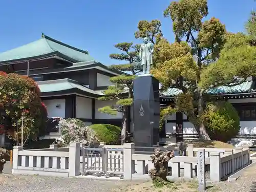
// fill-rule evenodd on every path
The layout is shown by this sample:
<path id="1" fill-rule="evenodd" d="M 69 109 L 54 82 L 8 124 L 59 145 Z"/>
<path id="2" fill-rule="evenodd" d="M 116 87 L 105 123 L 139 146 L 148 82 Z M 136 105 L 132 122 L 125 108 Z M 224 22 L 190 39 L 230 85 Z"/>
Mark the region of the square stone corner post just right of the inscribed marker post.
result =
<path id="1" fill-rule="evenodd" d="M 210 152 L 210 180 L 221 181 L 221 157 L 219 152 Z"/>

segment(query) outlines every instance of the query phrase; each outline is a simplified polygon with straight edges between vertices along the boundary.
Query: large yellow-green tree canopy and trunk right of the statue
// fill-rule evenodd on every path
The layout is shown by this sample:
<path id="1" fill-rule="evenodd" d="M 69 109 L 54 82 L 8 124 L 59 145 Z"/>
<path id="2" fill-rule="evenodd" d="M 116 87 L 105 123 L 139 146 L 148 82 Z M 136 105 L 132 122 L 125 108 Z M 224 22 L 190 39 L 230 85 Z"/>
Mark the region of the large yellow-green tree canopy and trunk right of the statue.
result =
<path id="1" fill-rule="evenodd" d="M 203 116 L 209 98 L 206 91 L 218 86 L 234 86 L 254 76 L 255 13 L 246 24 L 248 34 L 228 33 L 219 19 L 208 15 L 206 0 L 180 0 L 164 11 L 173 22 L 175 42 L 160 38 L 155 45 L 152 73 L 162 89 L 176 88 L 175 111 L 181 111 L 195 125 L 200 139 L 209 140 Z M 172 112 L 165 109 L 165 112 Z"/>

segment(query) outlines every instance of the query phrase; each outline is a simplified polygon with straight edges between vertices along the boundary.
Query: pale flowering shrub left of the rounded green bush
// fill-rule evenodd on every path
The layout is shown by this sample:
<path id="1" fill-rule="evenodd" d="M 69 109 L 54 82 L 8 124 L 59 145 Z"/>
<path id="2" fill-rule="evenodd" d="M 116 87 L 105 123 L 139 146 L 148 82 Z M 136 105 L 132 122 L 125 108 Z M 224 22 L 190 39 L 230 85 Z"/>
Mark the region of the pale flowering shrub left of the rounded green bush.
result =
<path id="1" fill-rule="evenodd" d="M 69 145 L 71 142 L 80 142 L 89 146 L 94 146 L 98 143 L 98 138 L 89 126 L 85 126 L 79 119 L 59 119 L 58 128 L 61 130 L 61 137 L 57 141 Z"/>

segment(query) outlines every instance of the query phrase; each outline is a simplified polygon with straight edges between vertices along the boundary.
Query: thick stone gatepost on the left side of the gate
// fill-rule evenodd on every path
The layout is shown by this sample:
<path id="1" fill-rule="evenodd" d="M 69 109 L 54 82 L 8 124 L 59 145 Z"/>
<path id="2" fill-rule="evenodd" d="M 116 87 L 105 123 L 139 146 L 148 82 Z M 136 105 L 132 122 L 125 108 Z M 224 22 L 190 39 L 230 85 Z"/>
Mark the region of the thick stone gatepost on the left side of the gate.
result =
<path id="1" fill-rule="evenodd" d="M 75 177 L 80 174 L 80 143 L 69 145 L 69 176 Z"/>

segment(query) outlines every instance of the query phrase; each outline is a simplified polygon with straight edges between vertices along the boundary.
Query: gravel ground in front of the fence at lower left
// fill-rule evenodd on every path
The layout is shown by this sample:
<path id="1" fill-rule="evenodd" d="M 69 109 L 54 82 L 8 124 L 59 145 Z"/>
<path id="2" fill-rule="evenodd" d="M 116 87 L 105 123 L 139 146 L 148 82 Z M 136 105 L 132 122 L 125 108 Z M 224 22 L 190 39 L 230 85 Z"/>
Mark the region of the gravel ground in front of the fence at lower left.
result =
<path id="1" fill-rule="evenodd" d="M 143 182 L 143 181 L 142 181 Z M 58 178 L 42 176 L 13 176 L 10 163 L 0 174 L 0 191 L 5 192 L 82 192 L 112 191 L 114 188 L 138 184 L 140 181 L 105 181 L 78 178 Z"/>

